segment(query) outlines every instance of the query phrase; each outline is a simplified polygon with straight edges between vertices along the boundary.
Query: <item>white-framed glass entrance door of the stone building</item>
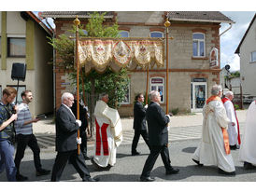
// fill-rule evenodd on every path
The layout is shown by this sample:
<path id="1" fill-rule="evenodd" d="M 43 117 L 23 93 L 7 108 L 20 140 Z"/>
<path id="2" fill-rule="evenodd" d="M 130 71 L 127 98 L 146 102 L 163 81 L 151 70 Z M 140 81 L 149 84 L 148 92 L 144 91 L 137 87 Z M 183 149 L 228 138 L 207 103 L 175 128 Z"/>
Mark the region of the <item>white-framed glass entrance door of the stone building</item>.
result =
<path id="1" fill-rule="evenodd" d="M 192 82 L 192 112 L 202 112 L 206 103 L 206 82 Z"/>

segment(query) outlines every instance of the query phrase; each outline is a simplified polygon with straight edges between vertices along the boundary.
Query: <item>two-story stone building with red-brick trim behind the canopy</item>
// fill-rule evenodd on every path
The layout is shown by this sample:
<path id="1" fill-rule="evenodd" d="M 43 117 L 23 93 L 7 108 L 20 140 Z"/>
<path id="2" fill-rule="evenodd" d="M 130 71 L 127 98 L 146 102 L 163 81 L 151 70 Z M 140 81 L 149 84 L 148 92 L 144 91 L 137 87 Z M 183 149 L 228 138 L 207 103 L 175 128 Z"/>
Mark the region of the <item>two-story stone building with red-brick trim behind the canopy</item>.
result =
<path id="1" fill-rule="evenodd" d="M 86 11 L 46 11 L 42 17 L 53 18 L 56 36 L 68 34 L 78 15 L 81 24 L 86 24 Z M 168 73 L 164 68 L 149 69 L 149 91 L 162 92 L 161 104 L 166 104 L 166 74 L 168 75 L 168 108 L 183 112 L 201 111 L 210 88 L 220 83 L 220 23 L 233 23 L 219 11 L 111 11 L 106 22 L 118 21 L 123 37 L 163 37 L 165 38 L 166 18 L 171 22 L 168 40 Z M 86 30 L 86 29 L 85 29 Z M 164 40 L 165 42 L 165 40 Z M 165 45 L 166 48 L 166 45 Z M 165 50 L 164 50 L 165 52 Z M 166 53 L 165 58 L 166 58 Z M 121 116 L 133 116 L 135 94 L 146 91 L 146 71 L 136 67 L 130 72 L 131 83 L 127 97 L 119 112 Z M 61 93 L 73 90 L 66 75 L 56 71 L 56 108 L 60 104 Z"/>

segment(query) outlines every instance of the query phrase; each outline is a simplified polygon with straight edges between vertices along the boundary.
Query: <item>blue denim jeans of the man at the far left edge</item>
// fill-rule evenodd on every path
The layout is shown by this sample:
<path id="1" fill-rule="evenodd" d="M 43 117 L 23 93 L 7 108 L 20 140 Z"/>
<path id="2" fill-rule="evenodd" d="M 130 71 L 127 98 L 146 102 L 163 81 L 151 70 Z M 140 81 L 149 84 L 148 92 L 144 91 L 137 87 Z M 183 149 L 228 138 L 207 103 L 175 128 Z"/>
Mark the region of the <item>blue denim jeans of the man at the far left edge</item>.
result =
<path id="1" fill-rule="evenodd" d="M 8 140 L 0 141 L 0 172 L 6 168 L 9 182 L 16 182 L 16 167 L 13 155 L 14 146 Z"/>

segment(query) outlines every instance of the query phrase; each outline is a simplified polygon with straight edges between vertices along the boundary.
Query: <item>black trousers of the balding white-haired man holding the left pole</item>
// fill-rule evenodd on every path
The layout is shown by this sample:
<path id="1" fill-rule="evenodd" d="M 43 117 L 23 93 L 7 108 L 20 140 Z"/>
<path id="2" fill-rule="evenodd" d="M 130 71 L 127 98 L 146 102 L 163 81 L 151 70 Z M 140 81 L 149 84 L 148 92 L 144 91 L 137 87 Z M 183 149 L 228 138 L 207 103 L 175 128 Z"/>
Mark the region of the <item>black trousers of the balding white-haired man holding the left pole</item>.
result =
<path id="1" fill-rule="evenodd" d="M 85 178 L 90 178 L 90 172 L 88 171 L 85 160 L 80 153 L 78 155 L 78 150 L 72 150 L 72 151 L 66 151 L 66 152 L 58 152 L 52 172 L 51 172 L 51 182 L 59 182 L 63 171 L 64 167 L 67 163 L 67 160 L 70 160 L 70 163 L 74 166 L 74 168 L 78 171 L 78 174 L 82 179 Z"/>

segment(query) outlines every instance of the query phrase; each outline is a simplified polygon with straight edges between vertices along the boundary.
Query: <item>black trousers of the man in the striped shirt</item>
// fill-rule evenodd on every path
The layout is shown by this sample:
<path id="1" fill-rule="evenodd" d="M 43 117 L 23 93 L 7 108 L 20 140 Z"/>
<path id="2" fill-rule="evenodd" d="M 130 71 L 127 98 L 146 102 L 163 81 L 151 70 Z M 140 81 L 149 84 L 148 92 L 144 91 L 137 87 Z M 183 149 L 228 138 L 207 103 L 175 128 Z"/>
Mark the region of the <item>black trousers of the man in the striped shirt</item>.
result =
<path id="1" fill-rule="evenodd" d="M 17 173 L 18 174 L 20 173 L 21 159 L 24 157 L 26 146 L 29 146 L 33 151 L 36 171 L 40 171 L 40 169 L 42 169 L 42 165 L 40 160 L 40 148 L 37 144 L 36 136 L 34 134 L 29 134 L 29 135 L 18 134 L 16 135 L 16 139 L 17 139 L 17 150 L 14 158 L 14 163 L 17 168 Z"/>

